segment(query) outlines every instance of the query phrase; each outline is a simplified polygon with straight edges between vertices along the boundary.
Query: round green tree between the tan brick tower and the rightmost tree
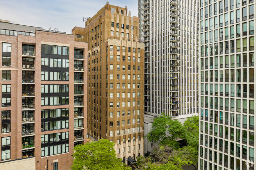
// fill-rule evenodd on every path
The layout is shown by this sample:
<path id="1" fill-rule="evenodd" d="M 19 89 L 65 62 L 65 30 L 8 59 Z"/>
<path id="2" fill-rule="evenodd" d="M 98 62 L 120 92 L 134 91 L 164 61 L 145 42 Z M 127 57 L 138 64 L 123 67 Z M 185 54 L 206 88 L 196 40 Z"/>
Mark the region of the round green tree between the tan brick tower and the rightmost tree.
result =
<path id="1" fill-rule="evenodd" d="M 149 141 L 160 141 L 160 145 L 169 145 L 173 148 L 179 148 L 177 138 L 185 138 L 186 130 L 178 120 L 172 120 L 170 116 L 162 113 L 161 116 L 153 119 L 152 130 L 147 134 Z"/>

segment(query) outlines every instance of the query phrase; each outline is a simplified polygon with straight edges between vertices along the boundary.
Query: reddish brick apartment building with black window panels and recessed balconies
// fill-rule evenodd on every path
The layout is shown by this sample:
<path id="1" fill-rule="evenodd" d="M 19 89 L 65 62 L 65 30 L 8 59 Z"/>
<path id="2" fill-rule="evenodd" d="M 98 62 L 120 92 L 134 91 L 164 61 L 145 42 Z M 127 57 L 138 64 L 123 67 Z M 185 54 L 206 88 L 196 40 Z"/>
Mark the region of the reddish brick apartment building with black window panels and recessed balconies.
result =
<path id="1" fill-rule="evenodd" d="M 87 136 L 87 43 L 0 20 L 0 169 L 70 169 Z M 84 141 L 85 138 L 85 141 Z"/>

